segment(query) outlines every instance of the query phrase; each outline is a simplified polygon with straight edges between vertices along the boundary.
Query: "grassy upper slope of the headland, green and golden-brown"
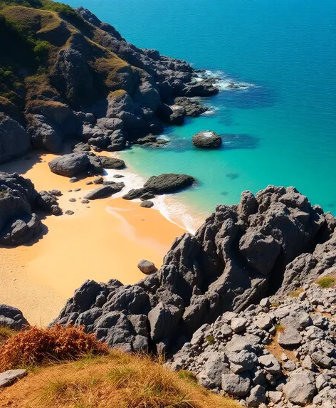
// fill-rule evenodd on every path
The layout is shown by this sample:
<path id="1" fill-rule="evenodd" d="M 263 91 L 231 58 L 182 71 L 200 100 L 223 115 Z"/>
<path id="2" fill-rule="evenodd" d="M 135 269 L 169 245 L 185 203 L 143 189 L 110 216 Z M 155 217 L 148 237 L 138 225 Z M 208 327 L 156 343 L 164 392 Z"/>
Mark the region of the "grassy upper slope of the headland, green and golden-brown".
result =
<path id="1" fill-rule="evenodd" d="M 64 90 L 51 85 L 53 66 L 58 51 L 78 41 L 98 90 L 96 98 L 124 88 L 122 73 L 134 68 L 95 43 L 95 38 L 101 36 L 98 31 L 101 30 L 64 4 L 50 0 L 0 0 L 0 36 L 5 38 L 0 43 L 0 97 L 21 110 L 29 108 L 31 100 L 46 99 L 46 95 L 47 99 L 59 100 Z M 62 98 L 71 104 L 64 92 Z"/>

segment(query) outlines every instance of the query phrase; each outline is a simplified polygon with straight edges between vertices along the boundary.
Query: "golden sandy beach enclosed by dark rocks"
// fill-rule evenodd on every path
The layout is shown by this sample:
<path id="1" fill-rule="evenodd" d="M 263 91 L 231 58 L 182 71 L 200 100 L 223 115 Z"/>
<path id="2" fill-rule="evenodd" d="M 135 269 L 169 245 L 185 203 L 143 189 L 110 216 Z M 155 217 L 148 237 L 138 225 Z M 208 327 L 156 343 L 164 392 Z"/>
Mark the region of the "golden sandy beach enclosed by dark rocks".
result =
<path id="1" fill-rule="evenodd" d="M 51 154 L 31 152 L 3 164 L 0 171 L 28 177 L 37 191 L 59 189 L 59 204 L 68 216 L 46 216 L 43 237 L 33 244 L 0 248 L 0 303 L 20 308 L 31 324 L 46 325 L 60 312 L 65 300 L 86 279 L 136 283 L 144 275 L 137 269 L 142 258 L 161 266 L 172 241 L 184 232 L 155 209 L 124 199 L 98 199 L 82 204 L 88 179 L 71 184 L 53 174 Z M 120 170 L 120 174 L 122 174 Z M 116 182 L 122 179 L 116 179 Z M 68 192 L 78 189 L 80 192 Z M 75 198 L 76 202 L 69 202 Z"/>

